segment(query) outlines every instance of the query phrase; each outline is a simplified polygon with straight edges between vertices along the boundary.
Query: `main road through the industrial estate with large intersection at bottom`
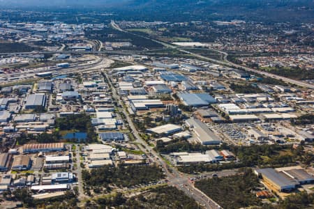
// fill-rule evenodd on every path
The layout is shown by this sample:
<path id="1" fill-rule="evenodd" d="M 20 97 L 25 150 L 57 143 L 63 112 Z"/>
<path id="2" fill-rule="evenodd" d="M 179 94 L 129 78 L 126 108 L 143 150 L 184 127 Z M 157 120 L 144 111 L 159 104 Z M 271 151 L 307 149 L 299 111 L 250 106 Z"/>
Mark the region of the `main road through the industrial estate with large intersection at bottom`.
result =
<path id="1" fill-rule="evenodd" d="M 107 75 L 106 72 L 104 72 L 105 77 L 108 81 L 110 80 L 110 77 Z M 112 82 L 109 82 L 111 88 L 112 88 L 112 98 L 116 100 L 121 107 L 124 107 L 124 104 L 122 104 L 122 99 L 117 94 L 116 88 L 114 88 L 114 85 Z M 123 112 L 124 116 L 126 117 L 126 121 L 128 122 L 128 125 L 130 126 L 130 130 L 133 132 L 133 135 L 137 141 L 142 146 L 139 146 L 140 150 L 142 150 L 144 153 L 149 153 L 147 156 L 157 164 L 159 164 L 161 167 L 163 167 L 163 171 L 165 172 L 165 175 L 167 176 L 167 179 L 169 180 L 169 184 L 177 187 L 178 189 L 183 190 L 188 196 L 192 197 L 200 203 L 205 208 L 220 208 L 218 206 L 218 203 L 213 201 L 209 198 L 209 196 L 206 196 L 203 194 L 200 190 L 196 189 L 193 185 L 193 183 L 188 180 L 188 176 L 184 175 L 183 173 L 179 173 L 177 169 L 174 169 L 173 167 L 169 167 L 167 163 L 156 153 L 156 151 L 147 144 L 144 139 L 140 136 L 140 132 L 137 131 L 132 119 L 130 118 L 129 114 L 126 112 L 126 109 L 121 108 L 121 111 Z M 154 158 L 151 157 L 154 156 Z"/>

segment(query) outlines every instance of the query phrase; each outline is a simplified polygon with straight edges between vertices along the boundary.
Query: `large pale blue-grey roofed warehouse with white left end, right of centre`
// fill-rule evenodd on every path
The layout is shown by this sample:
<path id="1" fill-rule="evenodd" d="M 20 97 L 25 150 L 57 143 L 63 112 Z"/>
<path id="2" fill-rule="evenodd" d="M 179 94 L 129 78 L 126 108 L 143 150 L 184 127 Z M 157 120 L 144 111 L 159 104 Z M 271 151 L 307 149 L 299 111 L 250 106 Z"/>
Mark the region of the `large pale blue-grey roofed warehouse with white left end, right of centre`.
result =
<path id="1" fill-rule="evenodd" d="M 179 93 L 178 96 L 186 106 L 203 107 L 216 103 L 216 99 L 208 93 Z"/>

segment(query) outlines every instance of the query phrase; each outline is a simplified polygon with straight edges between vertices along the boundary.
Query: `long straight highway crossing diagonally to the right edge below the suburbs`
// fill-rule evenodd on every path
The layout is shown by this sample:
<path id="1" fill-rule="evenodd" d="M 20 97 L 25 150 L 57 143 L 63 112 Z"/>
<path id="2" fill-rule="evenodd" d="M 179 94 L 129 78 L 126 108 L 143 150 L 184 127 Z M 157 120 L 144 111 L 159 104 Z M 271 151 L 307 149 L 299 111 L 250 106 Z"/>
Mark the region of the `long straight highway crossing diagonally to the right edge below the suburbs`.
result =
<path id="1" fill-rule="evenodd" d="M 119 31 L 123 31 L 125 33 L 130 33 L 130 31 L 124 31 L 123 29 L 121 29 L 119 27 L 119 25 L 117 25 L 113 20 L 111 21 L 111 25 L 114 27 L 114 29 L 117 29 Z M 139 36 L 141 38 L 147 38 L 145 36 L 140 36 L 140 35 L 138 35 L 136 33 L 132 33 L 132 34 L 135 35 L 135 36 Z M 313 84 L 308 84 L 306 82 L 301 82 L 301 81 L 290 79 L 290 78 L 287 78 L 287 77 L 274 75 L 274 74 L 269 73 L 269 72 L 255 70 L 253 68 L 244 67 L 242 65 L 238 65 L 238 64 L 232 63 L 230 61 L 227 61 L 227 56 L 228 56 L 227 52 L 221 52 L 221 51 L 215 50 L 215 51 L 217 51 L 219 53 L 224 54 L 224 56 L 223 56 L 224 60 L 220 61 L 220 60 L 216 60 L 216 59 L 211 59 L 211 58 L 209 58 L 207 56 L 202 56 L 200 54 L 195 54 L 193 52 L 189 52 L 188 49 L 186 49 L 187 47 L 178 47 L 178 46 L 175 46 L 175 45 L 170 45 L 170 44 L 168 44 L 166 42 L 161 42 L 161 41 L 155 40 L 153 38 L 147 38 L 147 39 L 152 40 L 154 42 L 158 42 L 159 44 L 164 45 L 165 47 L 168 47 L 168 48 L 171 48 L 171 49 L 177 49 L 180 52 L 184 52 L 186 54 L 193 55 L 193 56 L 195 56 L 197 58 L 200 58 L 200 59 L 203 59 L 203 60 L 206 60 L 206 61 L 210 61 L 212 63 L 218 63 L 220 65 L 227 65 L 230 68 L 241 68 L 241 69 L 244 69 L 244 70 L 246 70 L 248 72 L 255 72 L 255 73 L 259 74 L 259 75 L 263 75 L 263 76 L 266 76 L 266 77 L 271 77 L 271 78 L 274 78 L 274 79 L 280 79 L 280 80 L 283 80 L 283 82 L 287 82 L 287 83 L 290 83 L 290 84 L 295 84 L 295 85 L 298 85 L 298 86 L 301 86 L 301 87 L 314 88 Z"/>

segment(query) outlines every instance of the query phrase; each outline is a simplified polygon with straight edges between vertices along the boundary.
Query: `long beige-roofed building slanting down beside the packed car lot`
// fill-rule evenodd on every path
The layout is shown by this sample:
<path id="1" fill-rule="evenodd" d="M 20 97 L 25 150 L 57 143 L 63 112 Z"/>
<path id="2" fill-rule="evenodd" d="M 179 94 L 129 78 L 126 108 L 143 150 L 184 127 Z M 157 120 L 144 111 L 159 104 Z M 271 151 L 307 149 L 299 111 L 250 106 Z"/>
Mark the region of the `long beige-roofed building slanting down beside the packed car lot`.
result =
<path id="1" fill-rule="evenodd" d="M 220 144 L 221 140 L 209 127 L 196 118 L 186 120 L 186 125 L 195 132 L 197 141 L 203 145 Z"/>

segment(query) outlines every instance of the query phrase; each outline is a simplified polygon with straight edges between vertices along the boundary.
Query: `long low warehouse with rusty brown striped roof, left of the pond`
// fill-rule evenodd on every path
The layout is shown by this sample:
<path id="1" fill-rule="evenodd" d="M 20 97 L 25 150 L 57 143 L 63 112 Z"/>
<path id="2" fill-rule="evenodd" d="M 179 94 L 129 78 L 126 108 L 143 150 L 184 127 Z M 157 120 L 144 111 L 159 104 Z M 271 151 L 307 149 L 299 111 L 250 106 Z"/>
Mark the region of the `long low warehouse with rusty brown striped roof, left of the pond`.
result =
<path id="1" fill-rule="evenodd" d="M 64 143 L 24 144 L 23 153 L 59 152 L 65 150 Z"/>

